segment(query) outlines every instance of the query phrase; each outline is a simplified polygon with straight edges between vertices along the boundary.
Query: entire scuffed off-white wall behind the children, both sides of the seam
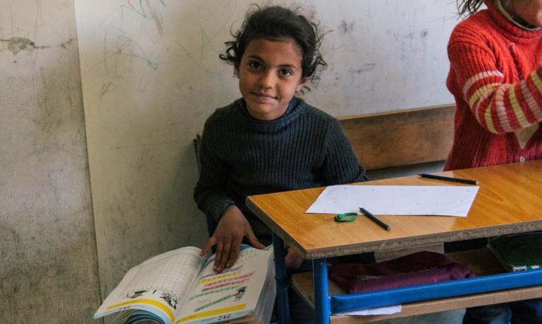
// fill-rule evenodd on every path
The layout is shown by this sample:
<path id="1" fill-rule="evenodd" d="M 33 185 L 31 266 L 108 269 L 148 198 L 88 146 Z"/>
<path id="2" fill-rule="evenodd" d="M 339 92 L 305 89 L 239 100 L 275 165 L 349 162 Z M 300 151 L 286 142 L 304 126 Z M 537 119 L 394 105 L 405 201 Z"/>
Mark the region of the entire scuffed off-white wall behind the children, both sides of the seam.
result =
<path id="1" fill-rule="evenodd" d="M 74 2 L 0 0 L 2 323 L 90 323 L 129 267 L 202 245 L 192 139 L 240 96 L 218 54 L 254 1 Z M 452 102 L 455 1 L 296 4 L 329 32 L 309 103 L 342 116 Z"/>

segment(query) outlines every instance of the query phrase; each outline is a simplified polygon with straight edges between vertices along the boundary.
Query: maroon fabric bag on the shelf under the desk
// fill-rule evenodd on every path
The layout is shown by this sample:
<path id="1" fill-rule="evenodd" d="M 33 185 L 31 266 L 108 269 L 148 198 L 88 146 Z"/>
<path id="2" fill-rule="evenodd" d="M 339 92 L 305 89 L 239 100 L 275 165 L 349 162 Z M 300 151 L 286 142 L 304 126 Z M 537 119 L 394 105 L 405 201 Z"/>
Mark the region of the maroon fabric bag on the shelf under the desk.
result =
<path id="1" fill-rule="evenodd" d="M 476 277 L 466 265 L 428 251 L 379 263 L 332 265 L 328 274 L 348 294 Z"/>

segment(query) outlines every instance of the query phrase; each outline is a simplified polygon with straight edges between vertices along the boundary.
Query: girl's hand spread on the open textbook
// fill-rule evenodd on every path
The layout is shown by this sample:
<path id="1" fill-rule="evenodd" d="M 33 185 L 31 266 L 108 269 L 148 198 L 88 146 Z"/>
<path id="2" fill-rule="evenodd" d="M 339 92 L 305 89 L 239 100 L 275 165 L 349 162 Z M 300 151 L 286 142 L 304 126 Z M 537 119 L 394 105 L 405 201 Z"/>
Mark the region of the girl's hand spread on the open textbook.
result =
<path id="1" fill-rule="evenodd" d="M 222 272 L 232 267 L 239 256 L 241 241 L 247 236 L 249 243 L 254 248 L 265 248 L 265 245 L 258 241 L 252 227 L 240 209 L 232 204 L 228 207 L 216 226 L 216 231 L 209 238 L 200 255 L 206 255 L 213 245 L 216 245 L 216 258 L 213 270 Z"/>

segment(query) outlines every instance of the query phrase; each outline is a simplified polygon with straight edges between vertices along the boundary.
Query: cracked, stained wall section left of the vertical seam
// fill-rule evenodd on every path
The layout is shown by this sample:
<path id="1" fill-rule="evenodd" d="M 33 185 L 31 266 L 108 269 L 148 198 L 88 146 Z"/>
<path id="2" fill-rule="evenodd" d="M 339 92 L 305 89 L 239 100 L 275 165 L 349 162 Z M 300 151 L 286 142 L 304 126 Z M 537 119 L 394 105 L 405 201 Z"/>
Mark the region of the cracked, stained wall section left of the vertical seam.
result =
<path id="1" fill-rule="evenodd" d="M 0 0 L 0 323 L 100 305 L 72 1 Z"/>

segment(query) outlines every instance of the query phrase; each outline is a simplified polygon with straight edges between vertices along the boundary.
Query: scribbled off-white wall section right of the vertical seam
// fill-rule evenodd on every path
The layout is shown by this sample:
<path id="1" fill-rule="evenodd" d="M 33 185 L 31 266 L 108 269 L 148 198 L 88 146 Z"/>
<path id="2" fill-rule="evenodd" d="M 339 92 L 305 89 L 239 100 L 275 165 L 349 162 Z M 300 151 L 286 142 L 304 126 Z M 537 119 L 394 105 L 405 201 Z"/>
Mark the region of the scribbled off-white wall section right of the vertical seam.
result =
<path id="1" fill-rule="evenodd" d="M 239 95 L 218 54 L 252 0 L 76 0 L 102 294 L 129 267 L 202 245 L 192 139 Z M 454 3 L 305 1 L 329 68 L 305 96 L 332 115 L 451 103 Z"/>

